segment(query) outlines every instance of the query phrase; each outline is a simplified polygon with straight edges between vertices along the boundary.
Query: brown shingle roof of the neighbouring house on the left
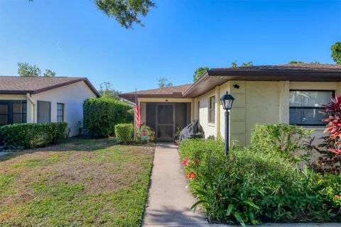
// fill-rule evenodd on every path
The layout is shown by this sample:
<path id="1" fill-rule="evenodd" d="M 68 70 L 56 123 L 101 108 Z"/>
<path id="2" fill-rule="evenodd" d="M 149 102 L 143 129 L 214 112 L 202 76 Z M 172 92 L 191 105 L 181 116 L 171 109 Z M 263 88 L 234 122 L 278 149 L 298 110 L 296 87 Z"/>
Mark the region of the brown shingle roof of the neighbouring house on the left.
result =
<path id="1" fill-rule="evenodd" d="M 36 94 L 67 84 L 84 81 L 85 84 L 100 96 L 86 77 L 0 77 L 0 94 Z"/>

